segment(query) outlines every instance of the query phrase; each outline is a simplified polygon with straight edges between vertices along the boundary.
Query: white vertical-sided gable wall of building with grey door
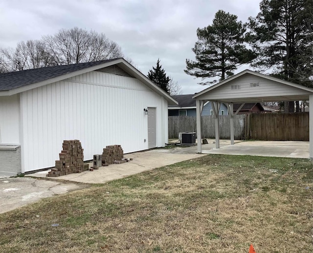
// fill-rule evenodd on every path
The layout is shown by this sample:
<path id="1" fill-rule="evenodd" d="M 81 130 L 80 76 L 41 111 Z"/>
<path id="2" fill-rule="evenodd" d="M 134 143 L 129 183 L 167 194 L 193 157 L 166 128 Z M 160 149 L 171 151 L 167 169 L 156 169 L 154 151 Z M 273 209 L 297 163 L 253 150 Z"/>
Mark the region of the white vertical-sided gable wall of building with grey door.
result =
<path id="1" fill-rule="evenodd" d="M 147 149 L 148 106 L 156 107 L 156 145 L 167 142 L 167 101 L 135 78 L 92 71 L 21 96 L 24 171 L 54 166 L 65 139 L 82 142 L 84 160 L 112 144 Z"/>

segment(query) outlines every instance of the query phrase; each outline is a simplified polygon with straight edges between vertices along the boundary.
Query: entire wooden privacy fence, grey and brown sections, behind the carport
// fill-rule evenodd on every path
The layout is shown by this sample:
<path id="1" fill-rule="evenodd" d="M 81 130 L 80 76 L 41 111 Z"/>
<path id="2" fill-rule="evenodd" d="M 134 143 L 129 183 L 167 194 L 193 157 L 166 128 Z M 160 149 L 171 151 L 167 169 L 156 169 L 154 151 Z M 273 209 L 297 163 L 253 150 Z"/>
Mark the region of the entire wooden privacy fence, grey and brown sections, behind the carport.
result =
<path id="1" fill-rule="evenodd" d="M 220 115 L 220 138 L 230 138 L 229 115 Z M 180 132 L 197 132 L 193 116 L 169 116 L 168 135 L 178 138 Z M 202 138 L 215 138 L 213 116 L 201 116 Z M 235 139 L 309 141 L 309 113 L 234 115 Z"/>

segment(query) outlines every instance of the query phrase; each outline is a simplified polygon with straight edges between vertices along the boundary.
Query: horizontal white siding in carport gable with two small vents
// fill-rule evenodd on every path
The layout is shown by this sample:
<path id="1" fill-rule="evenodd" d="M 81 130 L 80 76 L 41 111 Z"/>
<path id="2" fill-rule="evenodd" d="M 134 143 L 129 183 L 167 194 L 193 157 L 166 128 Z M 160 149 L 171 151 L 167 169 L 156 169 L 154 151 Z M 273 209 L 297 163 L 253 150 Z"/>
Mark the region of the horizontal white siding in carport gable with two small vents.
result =
<path id="1" fill-rule="evenodd" d="M 250 87 L 250 83 L 258 83 L 257 87 Z M 240 86 L 239 90 L 232 90 L 231 86 Z M 304 91 L 291 87 L 279 82 L 274 82 L 259 76 L 245 74 L 240 76 L 210 92 L 201 95 L 200 99 L 228 99 L 228 98 L 246 98 L 246 97 L 262 97 L 262 96 L 290 96 L 311 94 L 309 91 Z"/>

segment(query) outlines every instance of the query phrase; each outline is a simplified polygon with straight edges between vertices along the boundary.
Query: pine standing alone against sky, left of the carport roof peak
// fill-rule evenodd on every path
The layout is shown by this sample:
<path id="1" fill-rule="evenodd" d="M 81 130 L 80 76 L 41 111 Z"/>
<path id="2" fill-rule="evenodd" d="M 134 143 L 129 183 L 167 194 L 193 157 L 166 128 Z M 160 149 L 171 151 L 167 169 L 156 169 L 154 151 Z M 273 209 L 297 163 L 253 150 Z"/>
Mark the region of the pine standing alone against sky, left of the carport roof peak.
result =
<path id="1" fill-rule="evenodd" d="M 219 76 L 220 80 L 233 75 L 233 70 L 255 58 L 252 50 L 244 45 L 246 25 L 237 21 L 237 16 L 219 10 L 213 24 L 197 29 L 198 42 L 192 48 L 196 61 L 186 60 L 185 72 L 201 77 Z M 201 83 L 214 83 L 217 80 Z"/>

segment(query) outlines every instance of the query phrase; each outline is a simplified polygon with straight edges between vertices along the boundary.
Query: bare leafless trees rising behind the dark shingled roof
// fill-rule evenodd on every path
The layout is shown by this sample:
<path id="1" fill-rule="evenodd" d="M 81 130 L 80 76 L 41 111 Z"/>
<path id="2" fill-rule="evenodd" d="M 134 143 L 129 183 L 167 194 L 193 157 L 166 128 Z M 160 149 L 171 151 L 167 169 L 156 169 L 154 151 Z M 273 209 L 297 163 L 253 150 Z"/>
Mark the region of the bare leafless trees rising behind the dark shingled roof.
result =
<path id="1" fill-rule="evenodd" d="M 0 72 L 94 62 L 123 57 L 120 46 L 104 33 L 78 27 L 62 29 L 42 40 L 20 42 L 16 48 L 0 48 Z"/>

